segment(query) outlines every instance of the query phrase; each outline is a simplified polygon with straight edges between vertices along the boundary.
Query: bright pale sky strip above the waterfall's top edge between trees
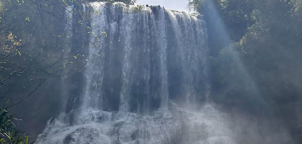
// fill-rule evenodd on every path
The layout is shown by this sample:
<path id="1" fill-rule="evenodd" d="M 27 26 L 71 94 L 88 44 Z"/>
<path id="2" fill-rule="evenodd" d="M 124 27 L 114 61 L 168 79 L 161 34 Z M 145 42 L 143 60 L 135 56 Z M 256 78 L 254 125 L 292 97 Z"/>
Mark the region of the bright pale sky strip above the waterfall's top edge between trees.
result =
<path id="1" fill-rule="evenodd" d="M 160 5 L 167 9 L 188 11 L 186 9 L 188 0 L 137 0 L 136 4 Z"/>

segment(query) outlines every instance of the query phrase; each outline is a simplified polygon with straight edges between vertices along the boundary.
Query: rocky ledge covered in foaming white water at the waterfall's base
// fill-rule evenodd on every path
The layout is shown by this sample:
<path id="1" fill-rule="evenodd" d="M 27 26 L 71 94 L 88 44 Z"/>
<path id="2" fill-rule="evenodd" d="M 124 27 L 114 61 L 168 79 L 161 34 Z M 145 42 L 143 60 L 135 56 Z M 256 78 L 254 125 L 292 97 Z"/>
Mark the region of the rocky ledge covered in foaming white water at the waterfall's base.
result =
<path id="1" fill-rule="evenodd" d="M 212 105 L 199 112 L 181 109 L 156 116 L 87 111 L 85 121 L 67 126 L 49 122 L 38 143 L 49 144 L 234 144 L 225 116 Z M 108 119 L 109 118 L 109 119 Z M 100 120 L 102 119 L 102 120 Z M 106 119 L 106 120 L 104 120 Z M 104 120 L 104 121 L 103 121 Z"/>

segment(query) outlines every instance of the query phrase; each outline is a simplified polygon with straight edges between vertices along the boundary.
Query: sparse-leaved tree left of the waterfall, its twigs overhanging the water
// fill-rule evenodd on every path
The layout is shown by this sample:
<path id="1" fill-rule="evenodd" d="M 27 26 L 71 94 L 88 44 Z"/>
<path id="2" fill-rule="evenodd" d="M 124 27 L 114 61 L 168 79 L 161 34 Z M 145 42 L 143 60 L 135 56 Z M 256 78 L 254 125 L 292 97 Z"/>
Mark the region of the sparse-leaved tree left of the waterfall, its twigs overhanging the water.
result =
<path id="1" fill-rule="evenodd" d="M 87 38 L 91 35 L 91 26 L 87 20 L 91 18 L 83 10 L 82 4 L 88 2 L 99 2 L 101 6 L 111 10 L 111 4 L 117 1 L 0 1 L 0 107 L 4 114 L 3 120 L 14 119 L 7 111 L 12 111 L 11 108 L 33 95 L 42 84 L 49 83 L 47 80 L 66 75 L 75 80 L 83 76 L 81 71 L 98 59 L 88 59 L 85 50 L 88 44 L 101 49 L 116 49 L 99 45 Z M 118 2 L 133 5 L 135 0 Z M 66 17 L 66 13 L 77 17 L 78 21 Z M 63 33 L 62 29 L 66 27 L 72 32 Z M 106 32 L 103 34 L 106 35 Z M 72 44 L 74 49 L 69 46 L 71 37 L 77 37 L 77 42 Z M 14 124 L 2 125 L 3 130 L 10 125 Z M 9 133 L 14 131 L 17 139 L 29 138 L 24 132 L 17 131 L 15 126 L 7 130 Z"/>

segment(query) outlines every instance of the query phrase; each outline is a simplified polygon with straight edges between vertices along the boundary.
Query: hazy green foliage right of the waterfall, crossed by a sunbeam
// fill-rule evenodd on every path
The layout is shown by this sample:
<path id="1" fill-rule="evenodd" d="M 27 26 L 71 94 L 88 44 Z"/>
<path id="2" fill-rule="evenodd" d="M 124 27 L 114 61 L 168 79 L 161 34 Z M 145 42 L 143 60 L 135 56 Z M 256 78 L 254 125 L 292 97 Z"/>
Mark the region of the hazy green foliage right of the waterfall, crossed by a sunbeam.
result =
<path id="1" fill-rule="evenodd" d="M 210 1 L 217 8 L 221 23 L 230 36 L 230 46 L 221 42 L 221 33 L 215 31 L 216 27 L 211 27 L 214 22 L 207 19 L 207 15 L 213 13 L 206 11 Z M 213 100 L 250 114 L 274 111 L 272 115 L 284 120 L 294 139 L 301 143 L 302 1 L 189 2 L 189 6 L 205 14 L 207 23 L 210 23 Z M 269 107 L 259 105 L 259 101 L 264 101 Z M 251 106 L 255 104 L 260 108 Z"/>

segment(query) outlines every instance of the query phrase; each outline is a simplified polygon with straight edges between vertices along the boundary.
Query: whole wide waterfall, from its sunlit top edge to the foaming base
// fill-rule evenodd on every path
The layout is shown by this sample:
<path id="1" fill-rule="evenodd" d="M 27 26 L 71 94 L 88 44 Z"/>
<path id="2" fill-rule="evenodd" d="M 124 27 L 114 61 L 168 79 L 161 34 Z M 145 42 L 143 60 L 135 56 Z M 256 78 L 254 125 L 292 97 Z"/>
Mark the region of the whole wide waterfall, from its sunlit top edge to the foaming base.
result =
<path id="1" fill-rule="evenodd" d="M 236 143 L 224 114 L 206 102 L 210 83 L 202 16 L 102 4 L 84 5 L 91 13 L 87 61 L 96 60 L 83 72 L 79 102 L 67 98 L 66 107 L 72 108 L 49 120 L 37 143 Z"/>

